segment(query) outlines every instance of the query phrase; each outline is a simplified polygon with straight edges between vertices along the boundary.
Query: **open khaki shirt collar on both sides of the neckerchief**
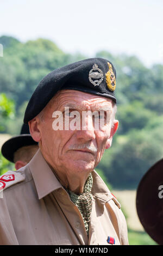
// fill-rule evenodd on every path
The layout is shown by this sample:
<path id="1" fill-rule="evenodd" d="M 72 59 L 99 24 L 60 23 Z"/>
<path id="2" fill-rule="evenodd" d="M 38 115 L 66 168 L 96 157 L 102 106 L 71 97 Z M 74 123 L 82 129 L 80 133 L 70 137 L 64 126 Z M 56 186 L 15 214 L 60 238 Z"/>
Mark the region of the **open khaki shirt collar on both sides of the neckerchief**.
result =
<path id="1" fill-rule="evenodd" d="M 64 188 L 44 159 L 40 149 L 29 162 L 29 168 L 34 179 L 39 199 L 47 196 L 47 194 L 58 188 Z M 95 170 L 93 170 L 92 176 L 93 185 L 91 193 L 93 196 L 97 197 L 103 204 L 113 199 L 118 208 L 120 208 L 120 203 L 118 203 L 117 199 L 111 194 L 109 188 Z"/>

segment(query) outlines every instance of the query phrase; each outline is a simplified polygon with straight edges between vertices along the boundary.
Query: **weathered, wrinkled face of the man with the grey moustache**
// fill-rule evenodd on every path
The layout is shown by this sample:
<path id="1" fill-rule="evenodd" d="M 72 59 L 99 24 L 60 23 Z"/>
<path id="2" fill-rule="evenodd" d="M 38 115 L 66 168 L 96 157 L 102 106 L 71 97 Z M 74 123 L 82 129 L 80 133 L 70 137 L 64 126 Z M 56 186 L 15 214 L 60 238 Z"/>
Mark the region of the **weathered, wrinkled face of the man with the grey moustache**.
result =
<path id="1" fill-rule="evenodd" d="M 77 111 L 80 114 L 80 130 L 53 129 L 55 111 L 61 111 L 65 127 L 65 106 L 69 107 L 70 113 Z M 116 132 L 118 125 L 111 129 L 110 120 L 108 123 L 105 120 L 104 125 L 96 130 L 95 120 L 87 115 L 83 118 L 83 111 L 103 111 L 106 119 L 106 114 L 110 115 L 112 112 L 112 101 L 77 90 L 61 90 L 55 95 L 55 100 L 44 109 L 43 120 L 36 117 L 42 154 L 60 175 L 90 173 L 101 161 L 105 148 L 110 147 L 112 136 Z M 82 118 L 89 130 L 82 129 Z M 69 120 L 71 123 L 73 118 L 70 117 Z"/>

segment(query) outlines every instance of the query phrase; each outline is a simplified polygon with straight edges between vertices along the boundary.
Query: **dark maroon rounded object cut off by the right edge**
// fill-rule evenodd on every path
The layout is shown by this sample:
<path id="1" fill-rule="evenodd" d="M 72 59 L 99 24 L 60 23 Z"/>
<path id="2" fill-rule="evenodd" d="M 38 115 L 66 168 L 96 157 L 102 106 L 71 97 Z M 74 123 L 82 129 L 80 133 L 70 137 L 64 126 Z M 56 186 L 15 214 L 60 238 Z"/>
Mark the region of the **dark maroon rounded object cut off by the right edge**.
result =
<path id="1" fill-rule="evenodd" d="M 156 162 L 141 179 L 137 188 L 136 209 L 148 235 L 163 245 L 163 159 Z"/>

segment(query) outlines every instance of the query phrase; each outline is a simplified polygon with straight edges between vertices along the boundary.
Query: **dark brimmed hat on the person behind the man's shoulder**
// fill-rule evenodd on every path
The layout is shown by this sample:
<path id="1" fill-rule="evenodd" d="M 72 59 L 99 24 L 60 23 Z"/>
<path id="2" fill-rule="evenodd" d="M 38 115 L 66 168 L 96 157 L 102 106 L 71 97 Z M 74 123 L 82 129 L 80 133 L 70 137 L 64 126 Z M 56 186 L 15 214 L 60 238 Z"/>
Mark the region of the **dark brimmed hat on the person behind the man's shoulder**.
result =
<path id="1" fill-rule="evenodd" d="M 2 155 L 10 162 L 14 162 L 14 153 L 16 150 L 24 146 L 37 144 L 38 143 L 35 142 L 30 135 L 28 124 L 23 124 L 20 135 L 8 139 L 8 141 L 2 145 Z"/>

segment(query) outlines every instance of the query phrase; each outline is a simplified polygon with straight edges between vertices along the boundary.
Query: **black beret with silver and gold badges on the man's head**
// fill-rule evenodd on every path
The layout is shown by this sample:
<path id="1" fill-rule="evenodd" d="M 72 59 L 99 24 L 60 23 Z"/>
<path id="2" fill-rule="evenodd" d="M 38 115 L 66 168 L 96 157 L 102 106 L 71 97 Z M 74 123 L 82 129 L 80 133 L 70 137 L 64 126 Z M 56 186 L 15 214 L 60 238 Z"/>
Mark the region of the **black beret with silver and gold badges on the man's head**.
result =
<path id="1" fill-rule="evenodd" d="M 41 80 L 29 100 L 24 123 L 36 117 L 59 90 L 79 90 L 109 97 L 116 103 L 115 87 L 116 70 L 106 59 L 90 58 L 63 66 Z"/>

